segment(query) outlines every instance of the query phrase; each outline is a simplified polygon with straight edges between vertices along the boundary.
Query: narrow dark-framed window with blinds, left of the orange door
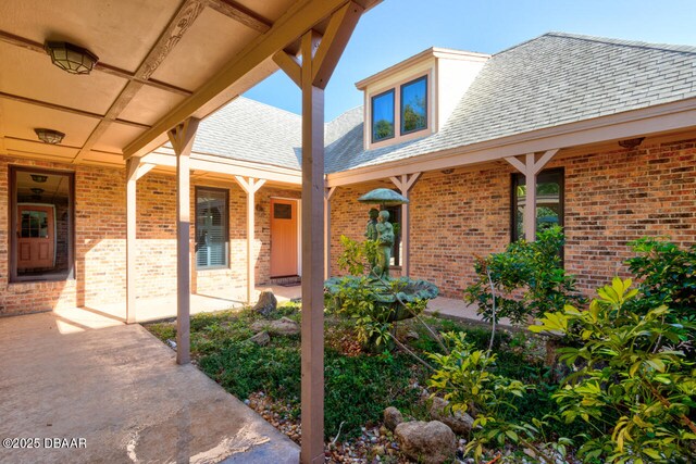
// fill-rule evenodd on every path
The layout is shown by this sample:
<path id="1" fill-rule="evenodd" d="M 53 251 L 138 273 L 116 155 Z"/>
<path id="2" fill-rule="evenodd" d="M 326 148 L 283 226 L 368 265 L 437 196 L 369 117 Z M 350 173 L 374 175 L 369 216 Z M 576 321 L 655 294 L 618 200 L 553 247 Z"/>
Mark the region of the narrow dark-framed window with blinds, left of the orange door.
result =
<path id="1" fill-rule="evenodd" d="M 228 192 L 196 188 L 196 268 L 229 265 Z"/>

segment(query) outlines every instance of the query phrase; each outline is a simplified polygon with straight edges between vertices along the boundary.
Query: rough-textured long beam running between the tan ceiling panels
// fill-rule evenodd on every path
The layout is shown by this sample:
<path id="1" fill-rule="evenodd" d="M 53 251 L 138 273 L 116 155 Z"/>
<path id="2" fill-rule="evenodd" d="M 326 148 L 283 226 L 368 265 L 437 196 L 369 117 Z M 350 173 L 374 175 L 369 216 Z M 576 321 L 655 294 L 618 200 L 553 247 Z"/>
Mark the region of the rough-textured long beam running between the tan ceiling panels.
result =
<path id="1" fill-rule="evenodd" d="M 184 34 L 188 30 L 188 28 L 194 24 L 196 18 L 200 15 L 200 13 L 206 8 L 207 0 L 186 0 L 184 4 L 178 9 L 172 21 L 170 21 L 169 25 L 154 43 L 154 47 L 150 49 L 142 63 L 138 66 L 135 72 L 135 76 L 147 80 L 150 78 L 152 73 L 157 71 L 159 65 L 164 61 L 166 55 L 176 47 L 178 41 L 184 37 Z M 130 80 L 126 84 L 125 88 L 121 91 L 119 97 L 114 100 L 104 114 L 104 118 L 99 122 L 97 127 L 89 135 L 87 140 L 85 141 L 84 147 L 75 156 L 73 162 L 79 161 L 84 158 L 89 150 L 95 146 L 95 143 L 101 138 L 101 136 L 107 131 L 107 128 L 111 125 L 111 122 L 114 121 L 119 114 L 125 110 L 125 108 L 130 103 L 130 100 L 135 98 L 138 91 L 142 88 L 144 84 Z"/>

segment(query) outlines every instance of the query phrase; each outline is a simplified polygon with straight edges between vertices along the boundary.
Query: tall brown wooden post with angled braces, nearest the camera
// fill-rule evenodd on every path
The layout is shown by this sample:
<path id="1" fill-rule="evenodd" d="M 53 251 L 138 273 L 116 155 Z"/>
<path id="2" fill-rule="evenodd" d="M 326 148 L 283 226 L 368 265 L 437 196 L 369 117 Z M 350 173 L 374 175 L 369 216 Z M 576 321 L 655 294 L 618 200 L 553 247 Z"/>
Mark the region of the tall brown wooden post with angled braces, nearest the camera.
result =
<path id="1" fill-rule="evenodd" d="M 324 89 L 364 9 L 334 12 L 324 36 L 302 36 L 302 60 L 284 50 L 273 60 L 302 90 L 302 464 L 324 462 Z"/>

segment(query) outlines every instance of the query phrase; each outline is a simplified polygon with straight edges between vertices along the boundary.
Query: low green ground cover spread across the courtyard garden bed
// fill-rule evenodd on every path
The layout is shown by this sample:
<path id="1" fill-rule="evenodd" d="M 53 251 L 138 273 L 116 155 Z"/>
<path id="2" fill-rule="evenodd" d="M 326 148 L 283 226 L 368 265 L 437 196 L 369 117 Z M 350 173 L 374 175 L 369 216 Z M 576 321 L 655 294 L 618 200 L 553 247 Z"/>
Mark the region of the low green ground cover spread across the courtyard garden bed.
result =
<path id="1" fill-rule="evenodd" d="M 296 304 L 279 306 L 270 318 L 300 319 Z M 276 401 L 290 405 L 291 415 L 299 415 L 300 406 L 300 339 L 299 336 L 271 336 L 271 342 L 259 347 L 247 341 L 253 331 L 249 328 L 262 317 L 250 310 L 204 313 L 191 316 L 191 355 L 199 367 L 237 398 L 247 399 L 263 391 Z M 428 325 L 439 331 L 465 331 L 476 347 L 486 349 L 490 331 L 481 325 L 425 317 Z M 176 338 L 174 323 L 147 326 L 163 341 Z M 411 319 L 398 325 L 400 334 L 415 331 L 419 337 L 409 342 L 410 348 L 424 356 L 439 346 L 421 324 Z M 378 425 L 387 406 L 398 407 L 405 416 L 428 419 L 427 405 L 421 397 L 430 373 L 408 354 L 385 351 L 365 354 L 356 342 L 350 321 L 327 316 L 325 318 L 325 434 L 332 439 L 352 438 L 361 427 Z M 552 412 L 550 401 L 554 386 L 545 378 L 548 369 L 542 356 L 531 355 L 538 350 L 537 339 L 523 333 L 498 331 L 495 350 L 498 353 L 497 371 L 539 387 L 531 393 L 530 401 L 520 405 L 520 416 L 539 416 Z M 401 337 L 400 337 L 401 338 Z"/>

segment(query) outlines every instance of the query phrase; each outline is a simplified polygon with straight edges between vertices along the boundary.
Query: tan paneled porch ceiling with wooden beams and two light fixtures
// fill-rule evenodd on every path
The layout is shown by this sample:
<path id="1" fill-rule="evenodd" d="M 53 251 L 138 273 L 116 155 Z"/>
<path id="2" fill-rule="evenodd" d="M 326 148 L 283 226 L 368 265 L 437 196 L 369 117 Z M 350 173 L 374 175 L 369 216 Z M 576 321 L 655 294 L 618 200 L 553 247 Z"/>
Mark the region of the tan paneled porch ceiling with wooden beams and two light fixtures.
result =
<path id="1" fill-rule="evenodd" d="M 7 0 L 0 3 L 0 154 L 122 165 L 277 70 L 271 57 L 348 0 Z M 358 1 L 362 7 L 373 0 Z M 48 40 L 99 57 L 51 64 Z M 64 133 L 57 146 L 34 129 Z"/>

